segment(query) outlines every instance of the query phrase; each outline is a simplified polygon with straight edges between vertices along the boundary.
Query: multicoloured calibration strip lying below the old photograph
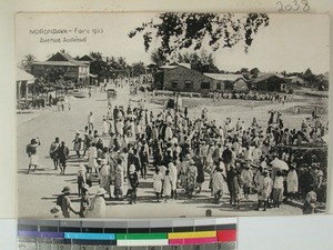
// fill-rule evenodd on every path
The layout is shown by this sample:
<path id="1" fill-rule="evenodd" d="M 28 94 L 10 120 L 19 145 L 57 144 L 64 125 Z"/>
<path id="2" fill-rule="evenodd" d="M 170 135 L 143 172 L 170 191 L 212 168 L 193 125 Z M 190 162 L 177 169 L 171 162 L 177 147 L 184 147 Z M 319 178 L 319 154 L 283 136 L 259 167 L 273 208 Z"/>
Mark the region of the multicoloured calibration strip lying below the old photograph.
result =
<path id="1" fill-rule="evenodd" d="M 211 222 L 215 222 L 211 220 Z M 225 223 L 223 223 L 225 221 Z M 75 246 L 118 246 L 118 247 L 163 247 L 203 246 L 236 242 L 236 220 L 208 221 L 182 220 L 144 227 L 120 221 L 33 221 L 18 224 L 18 239 L 21 242 L 57 243 Z M 170 222 L 170 221 L 169 221 Z M 221 223 L 222 222 L 222 223 Z M 93 223 L 93 224 L 92 224 Z M 108 227 L 108 224 L 110 227 Z M 158 231 L 158 232 L 155 232 Z"/>

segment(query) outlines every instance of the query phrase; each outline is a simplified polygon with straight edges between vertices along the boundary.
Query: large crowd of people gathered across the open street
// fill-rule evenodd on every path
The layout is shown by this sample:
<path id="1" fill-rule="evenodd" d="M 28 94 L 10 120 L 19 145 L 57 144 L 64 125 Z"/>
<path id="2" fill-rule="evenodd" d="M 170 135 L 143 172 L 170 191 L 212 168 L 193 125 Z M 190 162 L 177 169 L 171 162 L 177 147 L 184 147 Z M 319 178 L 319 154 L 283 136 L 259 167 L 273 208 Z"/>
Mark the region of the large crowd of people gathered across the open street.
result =
<path id="1" fill-rule="evenodd" d="M 259 210 L 300 199 L 304 213 L 314 212 L 317 193 L 324 187 L 325 166 L 315 158 L 296 161 L 290 150 L 278 148 L 320 141 L 326 129 L 320 118 L 304 120 L 296 130 L 285 128 L 282 114 L 273 110 L 265 128 L 255 118 L 251 123 L 228 118 L 218 124 L 209 119 L 206 109 L 194 116 L 190 116 L 186 107 L 154 111 L 148 110 L 144 101 L 137 107 L 108 101 L 101 130 L 90 112 L 83 132 L 78 130 L 72 141 L 75 158 L 81 159 L 77 172 L 80 210 L 72 209 L 70 188 L 64 187 L 52 212 L 62 211 L 64 217 L 70 211 L 80 217 L 103 217 L 104 199 L 138 202 L 141 180 L 153 183 L 155 197 L 151 200 L 157 202 L 195 199 L 206 182 L 214 203 L 226 198 L 235 209 L 241 209 L 243 201 L 255 194 Z M 34 140 L 27 147 L 28 172 L 38 166 L 33 158 L 37 150 L 32 148 L 39 144 Z M 69 152 L 59 138 L 51 143 L 50 158 L 60 174 L 65 174 Z M 94 181 L 100 189 L 92 197 L 89 189 Z"/>

